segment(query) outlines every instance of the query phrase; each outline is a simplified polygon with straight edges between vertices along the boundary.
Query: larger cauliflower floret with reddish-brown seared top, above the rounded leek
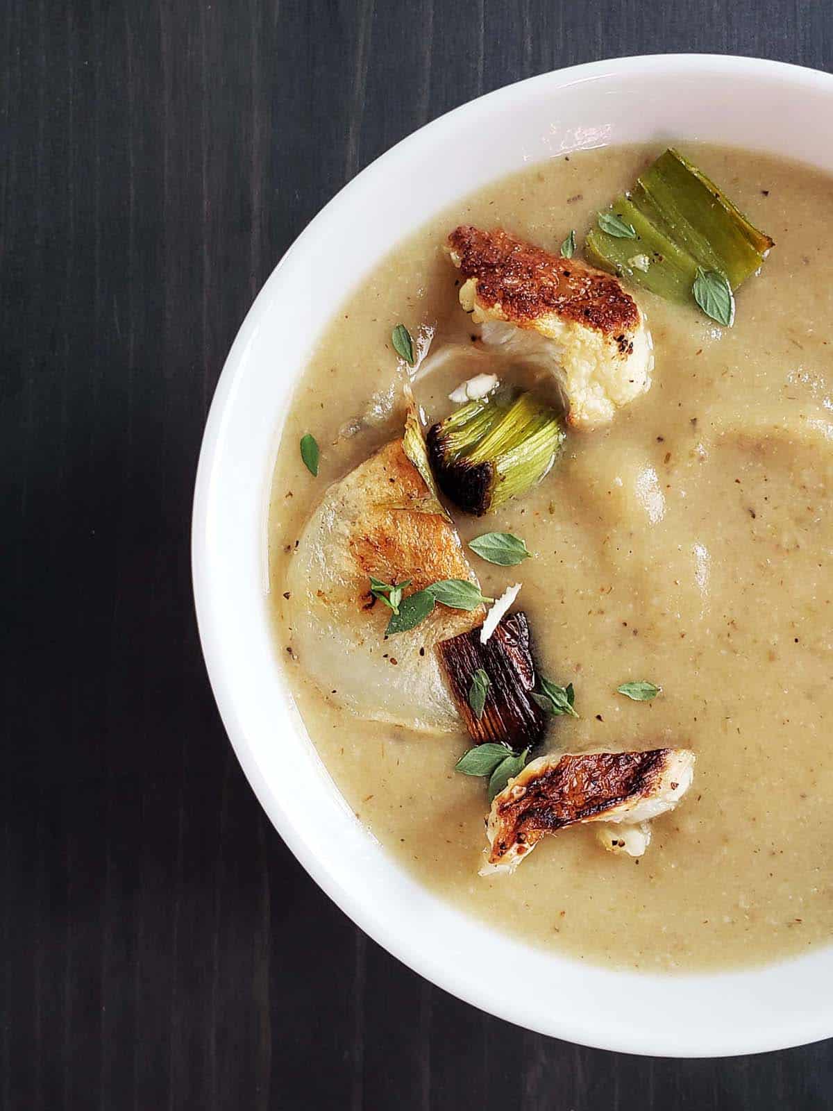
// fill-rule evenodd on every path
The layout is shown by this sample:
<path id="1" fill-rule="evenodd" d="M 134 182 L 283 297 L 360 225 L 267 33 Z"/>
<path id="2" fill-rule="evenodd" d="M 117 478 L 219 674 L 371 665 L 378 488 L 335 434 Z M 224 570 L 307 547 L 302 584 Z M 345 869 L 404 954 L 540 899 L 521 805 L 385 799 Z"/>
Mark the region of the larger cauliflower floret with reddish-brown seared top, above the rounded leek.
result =
<path id="1" fill-rule="evenodd" d="M 482 324 L 483 342 L 544 363 L 571 424 L 606 424 L 650 389 L 651 336 L 616 278 L 500 229 L 461 226 L 446 247 L 465 279 L 460 303 Z"/>

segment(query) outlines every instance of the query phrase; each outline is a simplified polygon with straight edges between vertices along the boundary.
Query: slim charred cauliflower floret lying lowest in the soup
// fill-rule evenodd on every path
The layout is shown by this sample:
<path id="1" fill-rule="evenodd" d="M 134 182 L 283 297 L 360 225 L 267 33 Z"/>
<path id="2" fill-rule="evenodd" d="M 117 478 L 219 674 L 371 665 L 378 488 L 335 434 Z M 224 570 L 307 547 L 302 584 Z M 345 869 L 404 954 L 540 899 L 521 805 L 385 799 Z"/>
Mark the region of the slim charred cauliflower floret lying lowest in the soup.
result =
<path id="1" fill-rule="evenodd" d="M 489 857 L 481 875 L 513 872 L 542 837 L 566 825 L 641 825 L 673 810 L 693 777 L 694 753 L 688 749 L 540 757 L 492 802 Z M 642 844 L 634 842 L 632 849 L 644 851 L 646 844 L 643 834 Z"/>

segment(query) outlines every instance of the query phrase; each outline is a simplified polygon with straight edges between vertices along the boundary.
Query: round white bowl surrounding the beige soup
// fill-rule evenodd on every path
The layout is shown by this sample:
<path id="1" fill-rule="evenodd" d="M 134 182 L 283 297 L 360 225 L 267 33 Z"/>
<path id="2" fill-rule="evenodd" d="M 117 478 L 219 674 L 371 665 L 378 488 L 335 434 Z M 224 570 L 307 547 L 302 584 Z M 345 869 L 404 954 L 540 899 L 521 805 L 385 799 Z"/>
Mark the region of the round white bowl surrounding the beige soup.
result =
<path id="1" fill-rule="evenodd" d="M 402 871 L 338 793 L 278 667 L 267 509 L 282 417 L 351 288 L 471 190 L 572 150 L 665 139 L 735 143 L 833 172 L 832 132 L 833 77 L 747 58 L 594 62 L 481 97 L 399 143 L 319 213 L 261 290 L 214 394 L 197 474 L 193 581 L 209 675 L 245 774 L 312 878 L 381 945 L 461 999 L 542 1033 L 674 1057 L 814 1041 L 833 1034 L 833 949 L 752 971 L 609 971 L 499 934 Z M 518 974 L 510 987 L 490 968 Z"/>

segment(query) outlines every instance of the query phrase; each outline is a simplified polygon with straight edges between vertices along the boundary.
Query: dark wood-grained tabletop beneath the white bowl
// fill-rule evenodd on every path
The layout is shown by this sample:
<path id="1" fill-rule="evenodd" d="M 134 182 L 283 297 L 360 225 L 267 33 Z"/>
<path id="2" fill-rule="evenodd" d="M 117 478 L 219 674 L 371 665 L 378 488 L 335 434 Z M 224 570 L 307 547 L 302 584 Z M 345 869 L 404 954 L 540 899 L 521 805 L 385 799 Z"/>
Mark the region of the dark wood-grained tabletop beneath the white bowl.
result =
<path id="1" fill-rule="evenodd" d="M 189 568 L 225 353 L 358 170 L 471 97 L 594 58 L 829 69 L 832 16 L 820 0 L 2 0 L 0 1107 L 833 1105 L 829 1043 L 716 1062 L 579 1049 L 370 942 L 243 779 Z"/>

